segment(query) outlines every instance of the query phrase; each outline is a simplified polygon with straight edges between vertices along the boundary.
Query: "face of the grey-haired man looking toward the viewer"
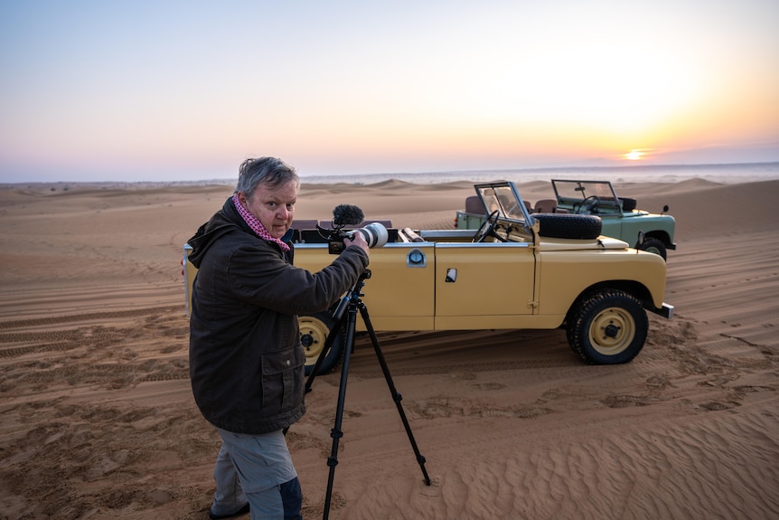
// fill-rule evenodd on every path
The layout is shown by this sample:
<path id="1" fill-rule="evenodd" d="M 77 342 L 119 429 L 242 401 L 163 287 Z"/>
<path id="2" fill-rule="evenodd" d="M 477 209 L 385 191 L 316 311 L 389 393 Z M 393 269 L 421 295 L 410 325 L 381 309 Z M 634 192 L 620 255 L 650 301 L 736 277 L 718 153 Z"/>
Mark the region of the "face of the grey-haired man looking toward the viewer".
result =
<path id="1" fill-rule="evenodd" d="M 238 198 L 272 237 L 280 239 L 292 225 L 297 202 L 297 183 L 290 181 L 277 188 L 258 184 L 251 197 L 239 192 Z"/>

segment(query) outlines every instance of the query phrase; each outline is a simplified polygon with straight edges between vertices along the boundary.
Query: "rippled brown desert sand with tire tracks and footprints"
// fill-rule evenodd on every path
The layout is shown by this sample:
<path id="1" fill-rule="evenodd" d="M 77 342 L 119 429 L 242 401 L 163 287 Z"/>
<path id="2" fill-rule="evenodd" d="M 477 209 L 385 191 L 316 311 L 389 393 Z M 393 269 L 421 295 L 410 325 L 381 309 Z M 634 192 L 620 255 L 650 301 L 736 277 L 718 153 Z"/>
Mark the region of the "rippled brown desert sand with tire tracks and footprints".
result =
<path id="1" fill-rule="evenodd" d="M 561 330 L 380 334 L 430 487 L 359 337 L 331 518 L 779 517 L 779 181 L 617 187 L 677 219 L 675 317 L 652 315 L 643 352 L 618 366 L 580 363 Z M 0 190 L 0 518 L 208 517 L 221 442 L 192 400 L 179 260 L 231 193 Z M 396 227 L 451 228 L 470 194 L 304 184 L 296 217 L 352 203 Z M 306 518 L 323 514 L 339 378 L 316 378 L 287 436 Z"/>

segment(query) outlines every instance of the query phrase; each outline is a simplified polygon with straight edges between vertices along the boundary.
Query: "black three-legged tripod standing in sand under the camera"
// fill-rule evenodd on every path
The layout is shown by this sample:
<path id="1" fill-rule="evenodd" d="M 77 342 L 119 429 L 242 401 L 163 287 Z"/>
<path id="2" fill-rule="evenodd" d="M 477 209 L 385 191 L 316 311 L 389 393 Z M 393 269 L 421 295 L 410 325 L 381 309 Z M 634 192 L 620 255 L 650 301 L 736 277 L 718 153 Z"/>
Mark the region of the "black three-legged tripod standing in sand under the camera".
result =
<path id="1" fill-rule="evenodd" d="M 408 440 L 411 442 L 411 448 L 414 449 L 414 454 L 417 456 L 417 462 L 419 468 L 422 468 L 422 476 L 425 477 L 425 484 L 430 486 L 430 477 L 427 476 L 427 469 L 425 469 L 425 457 L 419 453 L 417 447 L 417 441 L 414 440 L 414 434 L 411 433 L 411 427 L 408 425 L 408 419 L 406 419 L 406 412 L 403 411 L 403 406 L 400 401 L 403 399 L 398 391 L 395 389 L 395 383 L 392 383 L 392 376 L 390 375 L 390 369 L 387 366 L 387 361 L 384 359 L 384 355 L 381 354 L 381 347 L 379 346 L 379 339 L 376 337 L 376 332 L 371 325 L 371 318 L 368 316 L 368 308 L 362 303 L 360 299 L 362 287 L 365 285 L 365 280 L 371 278 L 371 270 L 365 269 L 360 275 L 360 279 L 354 284 L 354 287 L 346 293 L 342 298 L 338 307 L 333 312 L 333 317 L 336 320 L 335 326 L 331 329 L 330 334 L 327 335 L 327 339 L 324 341 L 324 348 L 319 357 L 316 358 L 316 364 L 308 376 L 308 380 L 305 382 L 305 392 L 311 392 L 311 384 L 314 383 L 314 377 L 319 372 L 319 367 L 322 365 L 324 355 L 328 353 L 333 346 L 333 341 L 343 326 L 346 326 L 346 345 L 344 345 L 343 353 L 343 368 L 341 370 L 341 386 L 338 390 L 338 404 L 335 409 L 335 424 L 333 430 L 330 432 L 330 436 L 333 438 L 333 449 L 330 452 L 330 457 L 327 458 L 327 466 L 330 468 L 330 475 L 327 478 L 327 492 L 324 497 L 324 520 L 330 515 L 330 499 L 333 493 L 333 477 L 335 477 L 335 466 L 338 464 L 338 442 L 343 437 L 343 431 L 341 430 L 341 422 L 343 419 L 343 401 L 346 397 L 346 379 L 349 376 L 349 361 L 352 357 L 352 350 L 354 349 L 354 327 L 357 324 L 357 310 L 360 310 L 362 321 L 365 322 L 365 327 L 368 330 L 369 336 L 371 336 L 371 343 L 373 344 L 373 350 L 376 352 L 376 357 L 379 358 L 379 364 L 381 365 L 381 372 L 384 373 L 384 379 L 387 380 L 387 385 L 390 387 L 390 393 L 392 394 L 392 401 L 395 402 L 395 406 L 398 408 L 400 414 L 400 420 L 403 421 L 403 426 L 406 428 L 408 434 Z M 344 311 L 346 315 L 344 316 Z"/>

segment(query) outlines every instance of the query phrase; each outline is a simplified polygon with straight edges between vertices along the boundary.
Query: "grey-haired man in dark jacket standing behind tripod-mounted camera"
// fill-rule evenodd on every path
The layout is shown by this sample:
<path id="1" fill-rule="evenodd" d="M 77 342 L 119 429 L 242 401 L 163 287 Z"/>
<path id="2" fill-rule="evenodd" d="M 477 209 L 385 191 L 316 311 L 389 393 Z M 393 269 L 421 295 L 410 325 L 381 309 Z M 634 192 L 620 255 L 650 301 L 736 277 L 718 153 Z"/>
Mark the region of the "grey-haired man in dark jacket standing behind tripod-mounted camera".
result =
<path id="1" fill-rule="evenodd" d="M 298 313 L 330 307 L 368 266 L 361 233 L 312 273 L 293 265 L 290 225 L 300 179 L 274 157 L 248 159 L 235 194 L 190 239 L 190 375 L 222 438 L 211 519 L 251 511 L 301 518 L 303 495 L 283 430 L 305 413 Z"/>

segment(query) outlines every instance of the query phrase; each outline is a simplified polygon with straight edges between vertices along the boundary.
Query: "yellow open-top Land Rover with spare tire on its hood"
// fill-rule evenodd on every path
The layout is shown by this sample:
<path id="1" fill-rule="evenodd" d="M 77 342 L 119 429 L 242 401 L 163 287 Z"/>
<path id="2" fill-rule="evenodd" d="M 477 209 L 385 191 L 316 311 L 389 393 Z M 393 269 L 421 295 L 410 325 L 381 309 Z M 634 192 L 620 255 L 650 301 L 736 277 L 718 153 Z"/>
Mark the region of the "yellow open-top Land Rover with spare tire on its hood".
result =
<path id="1" fill-rule="evenodd" d="M 474 187 L 489 211 L 476 232 L 390 227 L 390 241 L 371 250 L 361 298 L 375 331 L 562 326 L 584 361 L 621 364 L 643 348 L 647 310 L 672 317 L 660 256 L 603 236 L 594 215 L 529 213 L 511 182 Z M 332 261 L 323 234 L 297 231 L 297 266 L 319 270 Z M 185 245 L 189 298 L 196 269 L 187 252 Z M 335 320 L 329 311 L 298 319 L 310 370 Z M 344 340 L 333 338 L 320 373 L 339 364 Z"/>

